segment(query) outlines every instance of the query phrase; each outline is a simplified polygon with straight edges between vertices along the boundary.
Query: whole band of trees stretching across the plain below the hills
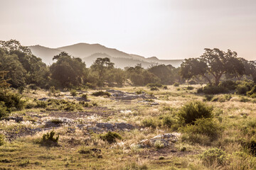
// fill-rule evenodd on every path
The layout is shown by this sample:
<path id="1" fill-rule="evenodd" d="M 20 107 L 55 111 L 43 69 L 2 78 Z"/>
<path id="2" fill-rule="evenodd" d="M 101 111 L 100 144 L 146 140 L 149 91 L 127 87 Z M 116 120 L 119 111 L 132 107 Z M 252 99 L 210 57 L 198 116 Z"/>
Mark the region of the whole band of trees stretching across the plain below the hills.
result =
<path id="1" fill-rule="evenodd" d="M 144 69 L 141 64 L 117 69 L 109 58 L 97 58 L 91 67 L 80 58 L 66 52 L 53 56 L 55 62 L 47 66 L 28 47 L 16 40 L 0 41 L 0 72 L 6 72 L 8 83 L 16 89 L 25 86 L 49 89 L 73 89 L 96 86 L 145 86 L 174 83 L 208 84 L 219 86 L 221 81 L 250 79 L 256 82 L 256 64 L 238 57 L 236 52 L 217 48 L 205 49 L 198 58 L 184 60 L 181 67 L 152 65 Z"/>

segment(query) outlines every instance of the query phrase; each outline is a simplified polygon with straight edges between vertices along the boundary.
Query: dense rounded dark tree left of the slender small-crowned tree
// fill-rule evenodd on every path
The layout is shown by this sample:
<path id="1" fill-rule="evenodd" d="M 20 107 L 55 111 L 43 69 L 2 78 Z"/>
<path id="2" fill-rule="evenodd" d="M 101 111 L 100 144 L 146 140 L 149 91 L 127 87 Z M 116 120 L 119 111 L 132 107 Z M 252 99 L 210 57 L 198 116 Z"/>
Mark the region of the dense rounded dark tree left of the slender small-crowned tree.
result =
<path id="1" fill-rule="evenodd" d="M 86 76 L 85 62 L 63 52 L 53 59 L 57 62 L 50 66 L 50 73 L 52 79 L 58 82 L 58 86 L 70 88 L 83 84 Z"/>

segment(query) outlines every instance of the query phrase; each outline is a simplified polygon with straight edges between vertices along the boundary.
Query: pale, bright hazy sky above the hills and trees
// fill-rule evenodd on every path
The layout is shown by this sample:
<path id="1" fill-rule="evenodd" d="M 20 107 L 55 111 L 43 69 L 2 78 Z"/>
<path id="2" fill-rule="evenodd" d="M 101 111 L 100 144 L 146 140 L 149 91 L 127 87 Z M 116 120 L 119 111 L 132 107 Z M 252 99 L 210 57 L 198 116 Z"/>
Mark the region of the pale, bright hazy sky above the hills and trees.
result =
<path id="1" fill-rule="evenodd" d="M 0 0 L 0 40 L 99 43 L 162 60 L 233 50 L 256 60 L 255 0 Z"/>

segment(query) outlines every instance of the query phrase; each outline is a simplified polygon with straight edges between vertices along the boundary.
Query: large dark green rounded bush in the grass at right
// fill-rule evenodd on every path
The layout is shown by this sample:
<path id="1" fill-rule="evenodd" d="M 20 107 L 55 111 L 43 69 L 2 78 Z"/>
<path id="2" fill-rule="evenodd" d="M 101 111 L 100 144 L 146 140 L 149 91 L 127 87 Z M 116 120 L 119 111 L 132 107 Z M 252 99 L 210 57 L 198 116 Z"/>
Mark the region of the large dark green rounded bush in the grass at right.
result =
<path id="1" fill-rule="evenodd" d="M 186 103 L 186 105 L 183 106 L 178 112 L 178 118 L 180 122 L 184 124 L 194 124 L 194 121 L 196 121 L 196 119 L 212 117 L 213 107 L 207 106 L 201 101 Z"/>

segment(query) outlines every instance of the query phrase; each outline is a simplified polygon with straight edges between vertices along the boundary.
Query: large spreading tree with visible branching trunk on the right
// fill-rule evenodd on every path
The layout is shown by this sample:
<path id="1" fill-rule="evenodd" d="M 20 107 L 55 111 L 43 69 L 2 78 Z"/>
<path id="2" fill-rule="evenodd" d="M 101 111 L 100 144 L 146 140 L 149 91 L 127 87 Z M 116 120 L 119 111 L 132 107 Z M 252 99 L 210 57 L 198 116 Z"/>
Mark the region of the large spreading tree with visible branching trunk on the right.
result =
<path id="1" fill-rule="evenodd" d="M 230 50 L 223 52 L 218 48 L 206 48 L 205 50 L 206 52 L 201 57 L 185 60 L 181 64 L 181 76 L 184 79 L 201 76 L 210 85 L 214 83 L 217 86 L 223 74 L 243 74 L 245 72 L 236 52 Z"/>

